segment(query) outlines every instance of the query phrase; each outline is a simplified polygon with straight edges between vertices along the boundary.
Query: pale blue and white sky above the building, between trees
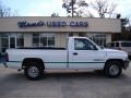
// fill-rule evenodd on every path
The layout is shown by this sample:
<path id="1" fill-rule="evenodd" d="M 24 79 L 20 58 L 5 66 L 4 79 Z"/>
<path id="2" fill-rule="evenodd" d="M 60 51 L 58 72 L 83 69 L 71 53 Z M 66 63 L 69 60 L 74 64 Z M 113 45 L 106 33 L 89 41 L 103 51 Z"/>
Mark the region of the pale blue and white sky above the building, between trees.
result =
<path id="1" fill-rule="evenodd" d="M 94 0 L 85 0 L 87 3 Z M 110 1 L 110 0 L 109 0 Z M 131 19 L 131 0 L 114 0 L 117 3 L 116 13 Z M 67 16 L 62 8 L 63 0 L 2 0 L 2 4 L 17 12 L 20 16 L 50 16 L 53 12 Z M 94 10 L 91 9 L 93 13 Z"/>

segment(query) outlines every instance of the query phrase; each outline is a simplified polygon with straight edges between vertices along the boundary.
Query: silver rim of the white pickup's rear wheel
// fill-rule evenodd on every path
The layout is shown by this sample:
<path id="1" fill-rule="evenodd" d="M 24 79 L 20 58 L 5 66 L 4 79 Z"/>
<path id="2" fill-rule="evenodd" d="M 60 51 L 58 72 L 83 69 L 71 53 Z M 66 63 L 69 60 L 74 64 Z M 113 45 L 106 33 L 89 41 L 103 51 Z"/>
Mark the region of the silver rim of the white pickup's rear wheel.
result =
<path id="1" fill-rule="evenodd" d="M 27 73 L 31 77 L 37 77 L 39 75 L 39 70 L 37 66 L 31 65 Z"/>

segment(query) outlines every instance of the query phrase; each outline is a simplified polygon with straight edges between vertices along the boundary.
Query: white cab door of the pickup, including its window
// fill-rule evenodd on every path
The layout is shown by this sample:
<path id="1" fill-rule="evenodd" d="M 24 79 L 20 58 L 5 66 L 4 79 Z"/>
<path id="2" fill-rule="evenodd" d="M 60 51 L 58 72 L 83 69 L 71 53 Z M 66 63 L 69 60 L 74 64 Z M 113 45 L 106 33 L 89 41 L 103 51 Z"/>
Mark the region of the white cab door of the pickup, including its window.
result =
<path id="1" fill-rule="evenodd" d="M 74 38 L 74 49 L 69 51 L 69 69 L 100 70 L 105 64 L 104 57 L 92 41 Z"/>

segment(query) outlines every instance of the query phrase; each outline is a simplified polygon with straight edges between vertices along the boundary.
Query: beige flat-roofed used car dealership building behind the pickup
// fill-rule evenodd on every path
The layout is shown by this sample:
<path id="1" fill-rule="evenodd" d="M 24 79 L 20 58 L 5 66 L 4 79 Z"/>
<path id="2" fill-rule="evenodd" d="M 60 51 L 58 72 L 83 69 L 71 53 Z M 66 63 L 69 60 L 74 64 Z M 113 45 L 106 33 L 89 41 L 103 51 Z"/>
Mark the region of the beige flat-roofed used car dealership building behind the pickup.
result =
<path id="1" fill-rule="evenodd" d="M 66 47 L 69 36 L 88 37 L 105 46 L 115 33 L 121 33 L 118 19 L 0 17 L 0 51 L 21 47 Z"/>

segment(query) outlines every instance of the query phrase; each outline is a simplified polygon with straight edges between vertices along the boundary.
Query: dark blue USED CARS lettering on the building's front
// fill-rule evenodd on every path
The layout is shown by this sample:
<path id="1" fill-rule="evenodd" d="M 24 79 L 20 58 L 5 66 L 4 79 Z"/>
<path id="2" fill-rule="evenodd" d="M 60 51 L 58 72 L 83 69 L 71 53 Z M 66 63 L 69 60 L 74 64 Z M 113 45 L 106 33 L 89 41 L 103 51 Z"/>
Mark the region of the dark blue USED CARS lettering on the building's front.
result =
<path id="1" fill-rule="evenodd" d="M 78 22 L 78 21 L 71 21 L 71 22 L 66 22 L 66 21 L 39 21 L 39 22 L 34 22 L 29 23 L 27 21 L 21 21 L 17 22 L 17 26 L 20 28 L 25 28 L 25 27 L 40 27 L 40 26 L 46 26 L 46 27 L 87 27 L 88 23 L 87 22 Z"/>

